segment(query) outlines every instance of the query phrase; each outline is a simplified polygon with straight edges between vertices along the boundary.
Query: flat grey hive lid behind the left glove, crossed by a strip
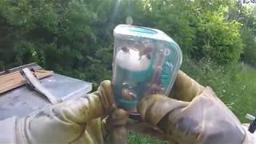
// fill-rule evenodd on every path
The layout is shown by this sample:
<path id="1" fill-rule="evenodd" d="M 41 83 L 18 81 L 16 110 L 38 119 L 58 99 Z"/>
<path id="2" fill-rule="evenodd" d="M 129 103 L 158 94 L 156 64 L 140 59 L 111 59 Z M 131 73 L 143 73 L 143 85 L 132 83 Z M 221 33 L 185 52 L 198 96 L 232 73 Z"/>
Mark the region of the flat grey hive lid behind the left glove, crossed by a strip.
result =
<path id="1" fill-rule="evenodd" d="M 53 74 L 40 81 L 42 86 L 49 90 L 50 93 L 63 101 L 85 96 L 92 90 L 90 82 L 84 82 L 60 74 Z M 21 86 L 0 94 L 0 120 L 12 116 L 22 117 L 36 114 L 50 105 L 47 98 L 34 90 L 29 90 L 26 86 Z"/>

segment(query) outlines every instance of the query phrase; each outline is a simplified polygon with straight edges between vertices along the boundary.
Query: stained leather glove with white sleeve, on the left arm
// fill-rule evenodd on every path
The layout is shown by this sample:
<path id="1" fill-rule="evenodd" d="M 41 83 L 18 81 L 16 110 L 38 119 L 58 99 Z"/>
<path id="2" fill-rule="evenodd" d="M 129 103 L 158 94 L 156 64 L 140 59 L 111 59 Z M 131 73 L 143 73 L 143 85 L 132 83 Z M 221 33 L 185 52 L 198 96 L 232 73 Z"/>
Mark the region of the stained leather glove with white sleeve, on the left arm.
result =
<path id="1" fill-rule="evenodd" d="M 101 118 L 109 114 L 113 102 L 111 83 L 104 81 L 86 97 L 56 104 L 34 116 L 0 122 L 0 143 L 103 143 Z"/>

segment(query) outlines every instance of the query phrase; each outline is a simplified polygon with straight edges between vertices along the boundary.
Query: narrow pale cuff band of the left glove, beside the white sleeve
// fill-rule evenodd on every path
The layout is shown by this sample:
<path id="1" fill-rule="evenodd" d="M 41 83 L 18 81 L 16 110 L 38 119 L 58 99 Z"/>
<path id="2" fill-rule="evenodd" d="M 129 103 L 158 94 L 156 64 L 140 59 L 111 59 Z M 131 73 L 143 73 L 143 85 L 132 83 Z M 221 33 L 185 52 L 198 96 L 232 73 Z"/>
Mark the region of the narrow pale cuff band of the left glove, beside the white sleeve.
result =
<path id="1" fill-rule="evenodd" d="M 26 130 L 29 128 L 29 121 L 27 118 L 18 118 L 16 121 L 15 133 L 16 133 L 16 143 L 28 144 L 29 135 Z"/>

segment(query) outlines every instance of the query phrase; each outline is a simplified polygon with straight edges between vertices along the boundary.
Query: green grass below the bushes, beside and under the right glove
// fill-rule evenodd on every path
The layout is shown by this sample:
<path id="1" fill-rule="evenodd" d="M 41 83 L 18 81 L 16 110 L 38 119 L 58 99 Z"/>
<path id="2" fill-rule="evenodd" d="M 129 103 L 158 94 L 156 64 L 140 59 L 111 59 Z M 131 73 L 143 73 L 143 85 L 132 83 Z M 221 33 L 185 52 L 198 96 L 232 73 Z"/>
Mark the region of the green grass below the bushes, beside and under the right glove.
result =
<path id="1" fill-rule="evenodd" d="M 240 63 L 218 66 L 209 59 L 198 62 L 184 58 L 182 70 L 203 86 L 212 87 L 242 123 L 250 122 L 245 118 L 247 113 L 256 115 L 256 69 L 253 67 Z M 128 143 L 164 142 L 130 134 Z"/>

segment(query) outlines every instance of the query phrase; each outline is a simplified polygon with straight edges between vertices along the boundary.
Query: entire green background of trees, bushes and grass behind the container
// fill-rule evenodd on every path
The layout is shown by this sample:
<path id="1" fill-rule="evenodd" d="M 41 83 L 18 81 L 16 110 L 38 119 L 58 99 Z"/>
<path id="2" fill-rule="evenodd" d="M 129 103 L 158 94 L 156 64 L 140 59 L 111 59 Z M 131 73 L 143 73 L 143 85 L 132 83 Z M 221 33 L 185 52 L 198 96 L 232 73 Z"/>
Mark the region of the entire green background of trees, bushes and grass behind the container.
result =
<path id="1" fill-rule="evenodd" d="M 111 79 L 118 24 L 178 42 L 182 70 L 213 87 L 242 122 L 256 115 L 254 0 L 0 0 L 0 70 L 38 62 L 74 78 Z M 163 143 L 130 134 L 129 143 Z"/>

